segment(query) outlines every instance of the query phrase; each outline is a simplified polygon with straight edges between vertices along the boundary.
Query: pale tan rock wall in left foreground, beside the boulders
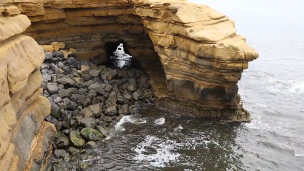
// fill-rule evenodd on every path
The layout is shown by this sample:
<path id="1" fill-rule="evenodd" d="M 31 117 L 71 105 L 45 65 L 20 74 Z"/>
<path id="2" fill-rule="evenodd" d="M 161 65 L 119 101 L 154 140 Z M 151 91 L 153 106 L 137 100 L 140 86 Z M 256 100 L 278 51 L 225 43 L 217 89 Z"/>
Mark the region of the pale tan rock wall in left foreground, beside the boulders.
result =
<path id="1" fill-rule="evenodd" d="M 53 125 L 42 126 L 50 110 L 48 99 L 40 96 L 44 52 L 21 34 L 29 25 L 16 6 L 0 4 L 0 170 L 32 170 L 46 153 L 38 144 L 48 146 L 55 135 Z M 32 159 L 33 151 L 39 158 Z"/>

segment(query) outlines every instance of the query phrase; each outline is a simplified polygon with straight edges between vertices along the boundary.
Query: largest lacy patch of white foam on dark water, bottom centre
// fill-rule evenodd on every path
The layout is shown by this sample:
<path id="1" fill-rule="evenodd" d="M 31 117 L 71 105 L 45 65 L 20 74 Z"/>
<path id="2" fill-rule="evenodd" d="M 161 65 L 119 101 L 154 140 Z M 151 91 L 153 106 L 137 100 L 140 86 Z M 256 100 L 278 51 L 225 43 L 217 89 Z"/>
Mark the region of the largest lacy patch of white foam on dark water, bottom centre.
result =
<path id="1" fill-rule="evenodd" d="M 174 140 L 160 139 L 153 135 L 147 135 L 144 141 L 140 142 L 136 148 L 133 149 L 137 153 L 133 159 L 136 160 L 136 162 L 148 162 L 149 165 L 154 167 L 165 167 L 166 163 L 178 161 L 180 154 L 172 152 L 172 150 L 176 148 L 176 144 Z M 145 147 L 154 148 L 156 152 L 148 153 Z"/>

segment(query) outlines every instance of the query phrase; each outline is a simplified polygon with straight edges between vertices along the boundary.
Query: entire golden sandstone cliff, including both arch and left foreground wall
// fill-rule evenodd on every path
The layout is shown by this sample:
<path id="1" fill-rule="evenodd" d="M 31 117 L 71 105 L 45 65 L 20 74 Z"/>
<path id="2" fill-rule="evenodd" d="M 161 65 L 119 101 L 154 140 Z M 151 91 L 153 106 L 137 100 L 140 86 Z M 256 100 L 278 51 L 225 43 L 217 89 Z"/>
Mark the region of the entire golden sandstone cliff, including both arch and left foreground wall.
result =
<path id="1" fill-rule="evenodd" d="M 49 141 L 44 133 L 52 135 L 54 128 L 43 122 L 49 104 L 39 96 L 44 54 L 36 41 L 64 42 L 85 59 L 102 59 L 107 44 L 124 42 L 150 75 L 157 107 L 201 118 L 249 118 L 237 81 L 258 54 L 236 34 L 232 20 L 208 6 L 185 0 L 1 0 L 0 24 L 3 170 L 44 167 L 51 151 L 40 141 Z"/>

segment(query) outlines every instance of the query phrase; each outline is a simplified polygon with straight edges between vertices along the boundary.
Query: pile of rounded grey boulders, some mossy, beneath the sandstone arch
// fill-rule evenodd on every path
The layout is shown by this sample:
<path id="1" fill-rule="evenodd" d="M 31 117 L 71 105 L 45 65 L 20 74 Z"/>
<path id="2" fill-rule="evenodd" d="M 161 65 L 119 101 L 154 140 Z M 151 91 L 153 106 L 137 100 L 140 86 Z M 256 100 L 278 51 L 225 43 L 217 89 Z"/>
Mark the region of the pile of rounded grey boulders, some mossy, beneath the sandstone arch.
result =
<path id="1" fill-rule="evenodd" d="M 141 70 L 77 60 L 75 49 L 64 50 L 63 43 L 43 47 L 42 95 L 51 104 L 45 120 L 57 129 L 52 143 L 53 170 L 68 170 L 75 165 L 65 162 L 95 148 L 96 141 L 109 136 L 121 117 L 135 114 L 140 103 L 153 103 L 154 95 L 148 76 Z M 78 163 L 76 168 L 85 167 Z"/>

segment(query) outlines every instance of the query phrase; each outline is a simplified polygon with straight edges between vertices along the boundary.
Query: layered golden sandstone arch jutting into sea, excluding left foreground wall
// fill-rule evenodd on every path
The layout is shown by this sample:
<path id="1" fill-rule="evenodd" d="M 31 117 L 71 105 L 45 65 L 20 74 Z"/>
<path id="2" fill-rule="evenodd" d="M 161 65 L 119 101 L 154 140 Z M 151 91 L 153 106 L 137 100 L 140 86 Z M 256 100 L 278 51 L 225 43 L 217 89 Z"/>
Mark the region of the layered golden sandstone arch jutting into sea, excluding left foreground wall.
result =
<path id="1" fill-rule="evenodd" d="M 32 22 L 27 35 L 63 41 L 78 58 L 104 60 L 106 44 L 122 40 L 149 73 L 159 108 L 248 120 L 236 83 L 258 54 L 224 14 L 185 0 L 14 2 Z"/>

